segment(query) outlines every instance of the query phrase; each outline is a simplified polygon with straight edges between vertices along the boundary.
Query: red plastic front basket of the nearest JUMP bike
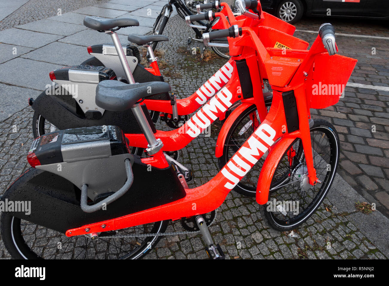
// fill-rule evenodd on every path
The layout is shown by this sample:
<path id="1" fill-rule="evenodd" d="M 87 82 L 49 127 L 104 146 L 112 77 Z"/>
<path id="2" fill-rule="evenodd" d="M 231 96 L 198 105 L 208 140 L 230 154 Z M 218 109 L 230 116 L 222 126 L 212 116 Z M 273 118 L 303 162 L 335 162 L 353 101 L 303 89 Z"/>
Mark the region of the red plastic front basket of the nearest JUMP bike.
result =
<path id="1" fill-rule="evenodd" d="M 326 108 L 338 103 L 356 63 L 356 59 L 338 54 L 316 55 L 306 83 L 310 108 Z"/>

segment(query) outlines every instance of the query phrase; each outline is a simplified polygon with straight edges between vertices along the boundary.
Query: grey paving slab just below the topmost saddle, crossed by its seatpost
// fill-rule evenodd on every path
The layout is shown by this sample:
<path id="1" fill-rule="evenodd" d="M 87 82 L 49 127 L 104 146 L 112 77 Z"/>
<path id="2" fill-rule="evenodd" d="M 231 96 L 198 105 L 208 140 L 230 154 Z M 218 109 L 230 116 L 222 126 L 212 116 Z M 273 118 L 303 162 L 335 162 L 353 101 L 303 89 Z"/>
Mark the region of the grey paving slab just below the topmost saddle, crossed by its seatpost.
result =
<path id="1" fill-rule="evenodd" d="M 122 44 L 128 42 L 127 37 L 124 35 L 119 35 L 119 39 Z M 112 43 L 112 39 L 105 33 L 100 33 L 95 30 L 88 29 L 60 39 L 58 42 L 89 47 L 96 44 Z"/>

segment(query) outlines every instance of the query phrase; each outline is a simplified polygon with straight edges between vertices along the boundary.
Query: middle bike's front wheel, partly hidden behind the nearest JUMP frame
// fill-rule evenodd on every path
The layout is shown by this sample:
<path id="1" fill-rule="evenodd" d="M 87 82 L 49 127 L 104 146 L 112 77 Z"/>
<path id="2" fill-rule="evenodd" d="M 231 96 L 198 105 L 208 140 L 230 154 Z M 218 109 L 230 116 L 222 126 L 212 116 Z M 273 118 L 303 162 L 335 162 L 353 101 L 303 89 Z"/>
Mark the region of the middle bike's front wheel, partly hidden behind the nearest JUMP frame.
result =
<path id="1" fill-rule="evenodd" d="M 268 100 L 265 105 L 269 110 L 271 100 Z M 250 137 L 252 133 L 258 128 L 260 124 L 258 111 L 256 105 L 251 105 L 245 109 L 242 114 L 231 125 L 227 133 L 226 141 L 223 147 L 223 155 L 219 157 L 219 167 L 222 169 L 224 165 L 231 159 L 231 157 L 238 151 L 242 144 Z M 256 185 L 258 182 L 259 172 L 262 168 L 264 159 L 261 158 L 251 168 L 251 170 L 238 182 L 234 191 L 242 195 L 254 197 L 256 193 Z"/>

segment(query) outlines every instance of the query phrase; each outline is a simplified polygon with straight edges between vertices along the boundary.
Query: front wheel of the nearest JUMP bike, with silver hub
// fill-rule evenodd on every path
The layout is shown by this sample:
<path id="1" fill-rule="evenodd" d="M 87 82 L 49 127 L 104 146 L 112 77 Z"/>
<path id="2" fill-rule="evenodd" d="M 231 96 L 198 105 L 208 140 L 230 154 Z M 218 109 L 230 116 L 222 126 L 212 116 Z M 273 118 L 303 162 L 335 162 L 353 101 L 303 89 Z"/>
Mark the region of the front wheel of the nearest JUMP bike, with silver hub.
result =
<path id="1" fill-rule="evenodd" d="M 335 127 L 319 119 L 310 133 L 314 168 L 321 183 L 309 184 L 301 139 L 294 140 L 273 175 L 268 197 L 272 203 L 260 206 L 262 216 L 276 230 L 293 230 L 305 222 L 322 203 L 335 177 L 340 148 Z"/>

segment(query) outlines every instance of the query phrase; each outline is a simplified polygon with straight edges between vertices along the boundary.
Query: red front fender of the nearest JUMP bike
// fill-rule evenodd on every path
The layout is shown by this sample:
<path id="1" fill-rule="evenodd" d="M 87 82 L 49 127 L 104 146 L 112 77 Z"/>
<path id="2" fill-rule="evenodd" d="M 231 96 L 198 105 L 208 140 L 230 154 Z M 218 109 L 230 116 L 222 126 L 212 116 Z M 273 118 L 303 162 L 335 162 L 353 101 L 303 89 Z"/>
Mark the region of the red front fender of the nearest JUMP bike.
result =
<path id="1" fill-rule="evenodd" d="M 295 137 L 284 137 L 270 148 L 270 152 L 263 163 L 257 184 L 256 201 L 266 204 L 269 200 L 269 189 L 273 175 L 286 149 L 292 144 Z"/>

